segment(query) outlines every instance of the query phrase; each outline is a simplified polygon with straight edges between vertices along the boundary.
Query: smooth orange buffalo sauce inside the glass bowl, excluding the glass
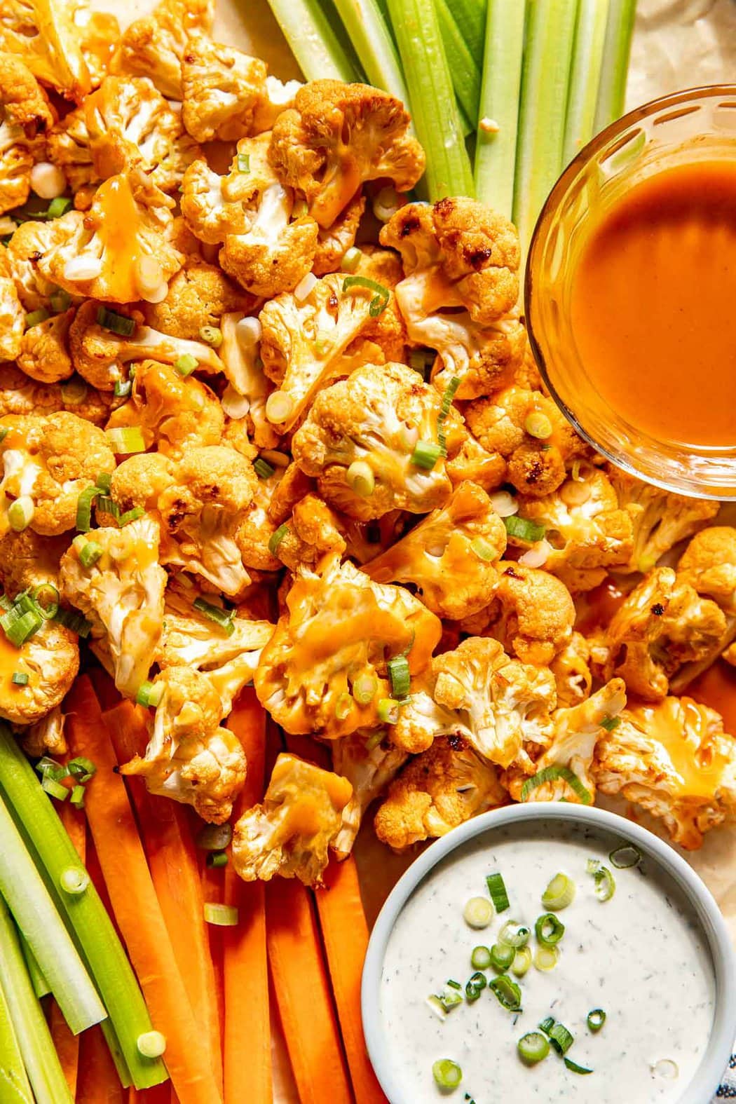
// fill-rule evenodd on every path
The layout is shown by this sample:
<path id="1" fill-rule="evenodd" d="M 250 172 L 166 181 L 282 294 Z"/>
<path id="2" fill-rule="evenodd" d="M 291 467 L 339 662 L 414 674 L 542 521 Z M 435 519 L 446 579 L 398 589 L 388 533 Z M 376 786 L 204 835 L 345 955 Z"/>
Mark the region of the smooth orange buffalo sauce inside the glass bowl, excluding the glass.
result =
<path id="1" fill-rule="evenodd" d="M 654 173 L 614 203 L 570 277 L 578 354 L 631 425 L 736 445 L 736 159 Z"/>

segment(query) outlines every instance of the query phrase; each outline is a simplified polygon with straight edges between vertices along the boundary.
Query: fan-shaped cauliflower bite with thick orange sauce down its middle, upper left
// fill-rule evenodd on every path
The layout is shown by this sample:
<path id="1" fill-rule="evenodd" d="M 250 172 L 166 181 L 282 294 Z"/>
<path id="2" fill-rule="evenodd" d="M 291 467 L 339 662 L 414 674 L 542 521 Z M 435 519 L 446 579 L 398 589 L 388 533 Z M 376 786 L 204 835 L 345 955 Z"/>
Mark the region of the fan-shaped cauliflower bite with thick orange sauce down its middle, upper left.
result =
<path id="1" fill-rule="evenodd" d="M 68 211 L 51 223 L 39 270 L 71 295 L 135 302 L 147 293 L 143 262 L 158 265 L 161 286 L 183 264 L 169 241 L 172 206 L 138 169 L 109 177 L 89 211 Z"/>

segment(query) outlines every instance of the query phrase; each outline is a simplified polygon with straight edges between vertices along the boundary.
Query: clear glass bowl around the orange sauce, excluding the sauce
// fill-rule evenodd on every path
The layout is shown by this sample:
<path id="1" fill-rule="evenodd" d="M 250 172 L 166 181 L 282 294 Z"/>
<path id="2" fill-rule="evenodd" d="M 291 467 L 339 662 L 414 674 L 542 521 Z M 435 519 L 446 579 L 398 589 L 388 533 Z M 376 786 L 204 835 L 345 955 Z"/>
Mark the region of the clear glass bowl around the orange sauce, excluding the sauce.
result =
<path id="1" fill-rule="evenodd" d="M 625 115 L 565 169 L 538 217 L 526 263 L 525 317 L 553 399 L 599 453 L 665 490 L 736 500 L 734 445 L 693 448 L 660 440 L 600 396 L 576 349 L 570 285 L 591 220 L 653 172 L 693 160 L 736 159 L 736 85 L 690 88 Z"/>

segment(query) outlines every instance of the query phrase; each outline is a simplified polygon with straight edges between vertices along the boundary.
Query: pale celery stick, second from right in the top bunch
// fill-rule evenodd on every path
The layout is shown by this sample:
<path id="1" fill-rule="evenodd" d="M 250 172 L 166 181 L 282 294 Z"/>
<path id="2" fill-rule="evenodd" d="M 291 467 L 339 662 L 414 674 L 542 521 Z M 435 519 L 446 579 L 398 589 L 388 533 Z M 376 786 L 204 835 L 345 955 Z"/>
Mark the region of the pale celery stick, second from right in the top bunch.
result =
<path id="1" fill-rule="evenodd" d="M 563 164 L 572 161 L 595 132 L 608 2 L 609 0 L 579 0 L 567 97 Z"/>

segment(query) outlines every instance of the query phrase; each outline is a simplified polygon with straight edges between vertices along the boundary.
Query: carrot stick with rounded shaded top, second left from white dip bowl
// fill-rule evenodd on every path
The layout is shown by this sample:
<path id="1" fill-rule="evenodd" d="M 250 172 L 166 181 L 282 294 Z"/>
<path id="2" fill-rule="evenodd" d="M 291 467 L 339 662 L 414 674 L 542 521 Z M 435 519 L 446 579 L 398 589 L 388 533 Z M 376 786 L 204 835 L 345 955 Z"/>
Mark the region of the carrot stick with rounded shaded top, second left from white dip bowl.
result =
<path id="1" fill-rule="evenodd" d="M 311 894 L 301 882 L 275 878 L 266 884 L 266 933 L 299 1100 L 301 1104 L 350 1104 L 350 1081 Z"/>

